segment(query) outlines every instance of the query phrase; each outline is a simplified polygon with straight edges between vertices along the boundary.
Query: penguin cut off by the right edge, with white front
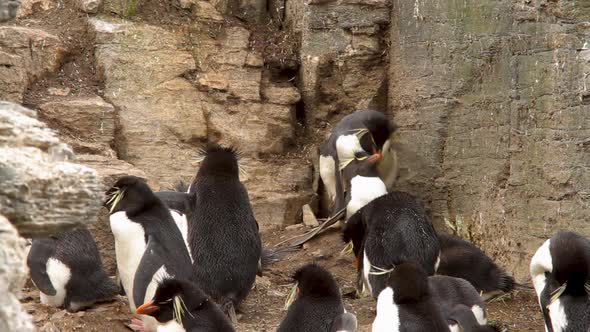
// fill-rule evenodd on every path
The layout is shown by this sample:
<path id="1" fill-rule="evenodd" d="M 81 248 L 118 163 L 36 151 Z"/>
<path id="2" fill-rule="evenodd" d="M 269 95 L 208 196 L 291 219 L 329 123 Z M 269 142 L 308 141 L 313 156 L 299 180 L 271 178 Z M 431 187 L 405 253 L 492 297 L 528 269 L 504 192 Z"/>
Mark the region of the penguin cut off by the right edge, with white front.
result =
<path id="1" fill-rule="evenodd" d="M 590 241 L 560 231 L 535 252 L 531 278 L 549 332 L 590 329 Z"/>

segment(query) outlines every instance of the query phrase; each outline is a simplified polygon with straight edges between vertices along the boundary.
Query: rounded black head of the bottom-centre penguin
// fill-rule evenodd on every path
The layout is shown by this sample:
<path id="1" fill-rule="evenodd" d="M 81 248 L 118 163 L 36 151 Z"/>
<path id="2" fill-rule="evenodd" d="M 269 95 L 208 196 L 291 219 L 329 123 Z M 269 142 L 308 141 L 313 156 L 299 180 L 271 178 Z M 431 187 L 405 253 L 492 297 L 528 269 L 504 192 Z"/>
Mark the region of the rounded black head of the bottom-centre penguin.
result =
<path id="1" fill-rule="evenodd" d="M 295 272 L 299 296 L 340 297 L 340 288 L 327 270 L 316 264 L 307 264 Z"/>

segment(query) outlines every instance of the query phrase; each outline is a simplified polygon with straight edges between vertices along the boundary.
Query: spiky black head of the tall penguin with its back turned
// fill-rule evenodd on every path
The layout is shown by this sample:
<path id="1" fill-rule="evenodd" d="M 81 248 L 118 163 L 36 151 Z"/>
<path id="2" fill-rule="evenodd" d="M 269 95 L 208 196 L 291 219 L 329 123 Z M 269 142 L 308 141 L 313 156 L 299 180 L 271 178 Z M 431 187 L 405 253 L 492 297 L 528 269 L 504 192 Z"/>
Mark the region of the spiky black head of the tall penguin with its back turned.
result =
<path id="1" fill-rule="evenodd" d="M 204 158 L 197 172 L 197 178 L 207 175 L 239 177 L 239 152 L 237 149 L 210 143 L 202 151 L 202 154 Z"/>

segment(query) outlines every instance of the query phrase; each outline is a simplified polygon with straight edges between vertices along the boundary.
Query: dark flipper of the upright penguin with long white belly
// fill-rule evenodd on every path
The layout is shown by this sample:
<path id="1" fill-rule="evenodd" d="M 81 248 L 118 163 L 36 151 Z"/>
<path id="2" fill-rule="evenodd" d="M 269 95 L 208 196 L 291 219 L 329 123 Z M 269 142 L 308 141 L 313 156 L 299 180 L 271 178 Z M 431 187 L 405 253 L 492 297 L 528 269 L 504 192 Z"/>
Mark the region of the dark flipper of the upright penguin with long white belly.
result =
<path id="1" fill-rule="evenodd" d="M 159 254 L 160 244 L 152 236 L 148 237 L 147 247 L 141 256 L 141 261 L 135 271 L 133 279 L 133 301 L 136 306 L 143 304 L 145 293 L 154 278 L 154 274 L 164 265 L 164 260 Z"/>

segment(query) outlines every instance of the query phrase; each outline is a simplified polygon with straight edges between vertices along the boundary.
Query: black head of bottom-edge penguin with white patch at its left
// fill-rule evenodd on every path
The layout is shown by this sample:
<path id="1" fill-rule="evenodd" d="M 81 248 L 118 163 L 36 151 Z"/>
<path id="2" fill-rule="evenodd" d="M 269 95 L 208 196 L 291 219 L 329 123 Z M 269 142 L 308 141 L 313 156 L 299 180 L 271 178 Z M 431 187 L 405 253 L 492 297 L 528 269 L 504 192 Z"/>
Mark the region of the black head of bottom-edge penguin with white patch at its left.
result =
<path id="1" fill-rule="evenodd" d="M 396 265 L 387 286 L 393 289 L 393 300 L 398 304 L 421 302 L 429 296 L 428 275 L 413 262 Z"/>

